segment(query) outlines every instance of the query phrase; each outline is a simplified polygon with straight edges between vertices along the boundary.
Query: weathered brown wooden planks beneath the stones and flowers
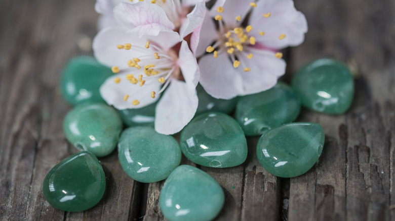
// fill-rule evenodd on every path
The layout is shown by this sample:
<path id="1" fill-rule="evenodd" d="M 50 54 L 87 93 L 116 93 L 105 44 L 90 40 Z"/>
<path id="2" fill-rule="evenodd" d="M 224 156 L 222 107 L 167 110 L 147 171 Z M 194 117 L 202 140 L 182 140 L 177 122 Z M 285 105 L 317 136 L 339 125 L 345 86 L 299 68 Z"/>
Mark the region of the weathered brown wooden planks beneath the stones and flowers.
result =
<path id="1" fill-rule="evenodd" d="M 81 213 L 52 208 L 41 185 L 48 171 L 75 152 L 62 120 L 71 108 L 58 92 L 62 66 L 91 54 L 94 1 L 12 1 L 0 7 L 0 219 L 163 220 L 163 182 L 140 184 L 114 152 L 101 158 L 103 200 Z M 307 62 L 332 57 L 358 68 L 355 99 L 341 116 L 304 110 L 298 121 L 321 124 L 326 143 L 306 174 L 268 174 L 249 138 L 239 167 L 210 169 L 226 203 L 216 220 L 395 220 L 395 2 L 296 1 L 309 24 L 305 42 L 287 50 L 287 76 Z M 355 65 L 356 64 L 356 65 Z M 193 164 L 183 160 L 184 163 Z M 193 164 L 194 165 L 194 164 Z"/>

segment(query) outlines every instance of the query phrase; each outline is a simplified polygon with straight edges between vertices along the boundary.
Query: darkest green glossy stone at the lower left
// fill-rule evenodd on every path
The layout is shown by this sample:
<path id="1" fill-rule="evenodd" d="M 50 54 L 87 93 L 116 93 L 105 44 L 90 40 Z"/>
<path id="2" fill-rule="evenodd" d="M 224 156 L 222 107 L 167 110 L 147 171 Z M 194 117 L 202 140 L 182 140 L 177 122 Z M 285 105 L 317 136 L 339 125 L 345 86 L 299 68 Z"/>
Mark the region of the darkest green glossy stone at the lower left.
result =
<path id="1" fill-rule="evenodd" d="M 106 180 L 92 153 L 75 153 L 55 165 L 43 183 L 45 199 L 55 208 L 70 212 L 87 210 L 103 197 Z"/>

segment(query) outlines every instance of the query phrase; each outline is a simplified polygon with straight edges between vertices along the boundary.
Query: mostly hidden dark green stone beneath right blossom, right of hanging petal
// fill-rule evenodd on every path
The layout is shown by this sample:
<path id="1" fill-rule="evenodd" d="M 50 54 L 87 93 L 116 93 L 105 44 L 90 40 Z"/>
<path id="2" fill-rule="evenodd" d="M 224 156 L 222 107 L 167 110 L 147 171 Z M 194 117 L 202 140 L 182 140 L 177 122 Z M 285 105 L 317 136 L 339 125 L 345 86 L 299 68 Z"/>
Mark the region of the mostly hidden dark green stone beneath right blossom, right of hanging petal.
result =
<path id="1" fill-rule="evenodd" d="M 232 98 L 230 100 L 214 98 L 208 94 L 200 84 L 196 86 L 196 91 L 198 92 L 199 98 L 199 105 L 198 109 L 196 109 L 196 115 L 206 112 L 221 112 L 228 114 L 232 112 L 234 106 L 236 106 L 237 98 Z"/>

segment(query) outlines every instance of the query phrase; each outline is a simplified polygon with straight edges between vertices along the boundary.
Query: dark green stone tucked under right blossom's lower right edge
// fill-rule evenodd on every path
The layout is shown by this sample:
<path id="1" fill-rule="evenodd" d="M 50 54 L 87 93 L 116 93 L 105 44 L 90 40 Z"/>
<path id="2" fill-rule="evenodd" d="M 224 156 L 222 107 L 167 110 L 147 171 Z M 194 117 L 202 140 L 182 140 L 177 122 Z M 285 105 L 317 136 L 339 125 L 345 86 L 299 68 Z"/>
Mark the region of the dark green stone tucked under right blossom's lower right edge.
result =
<path id="1" fill-rule="evenodd" d="M 292 89 L 278 83 L 271 89 L 239 98 L 235 119 L 247 136 L 260 135 L 268 129 L 294 121 L 300 101 Z"/>

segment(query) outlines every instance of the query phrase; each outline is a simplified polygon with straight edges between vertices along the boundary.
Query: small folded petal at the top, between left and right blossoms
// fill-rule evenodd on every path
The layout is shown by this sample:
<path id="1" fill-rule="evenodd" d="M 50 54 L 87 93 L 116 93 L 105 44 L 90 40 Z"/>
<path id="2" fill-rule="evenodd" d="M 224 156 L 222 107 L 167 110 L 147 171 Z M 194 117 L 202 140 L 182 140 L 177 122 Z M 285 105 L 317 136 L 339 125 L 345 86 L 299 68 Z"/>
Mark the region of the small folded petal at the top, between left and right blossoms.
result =
<path id="1" fill-rule="evenodd" d="M 181 25 L 180 28 L 181 39 L 184 39 L 185 36 L 192 33 L 195 29 L 199 28 L 202 25 L 203 19 L 205 17 L 205 13 L 206 13 L 206 3 L 205 2 L 197 3 L 195 8 L 192 10 L 192 12 L 186 15 L 186 19 Z"/>

